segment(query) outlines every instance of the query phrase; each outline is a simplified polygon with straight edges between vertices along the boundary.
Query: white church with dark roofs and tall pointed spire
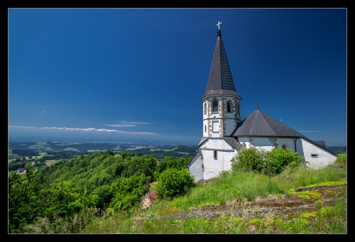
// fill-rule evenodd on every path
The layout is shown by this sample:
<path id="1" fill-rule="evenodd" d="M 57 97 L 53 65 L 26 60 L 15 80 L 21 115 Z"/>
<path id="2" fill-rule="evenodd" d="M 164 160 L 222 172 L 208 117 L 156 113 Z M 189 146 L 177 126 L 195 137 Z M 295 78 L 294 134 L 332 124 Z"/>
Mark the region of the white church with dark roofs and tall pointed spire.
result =
<path id="1" fill-rule="evenodd" d="M 310 140 L 261 111 L 258 105 L 243 120 L 240 108 L 241 97 L 236 93 L 219 29 L 206 91 L 202 96 L 203 136 L 198 152 L 187 164 L 195 182 L 231 170 L 231 159 L 245 148 L 291 148 L 297 155 L 304 156 L 308 167 L 315 169 L 337 159 L 337 155 L 327 150 L 324 141 Z"/>

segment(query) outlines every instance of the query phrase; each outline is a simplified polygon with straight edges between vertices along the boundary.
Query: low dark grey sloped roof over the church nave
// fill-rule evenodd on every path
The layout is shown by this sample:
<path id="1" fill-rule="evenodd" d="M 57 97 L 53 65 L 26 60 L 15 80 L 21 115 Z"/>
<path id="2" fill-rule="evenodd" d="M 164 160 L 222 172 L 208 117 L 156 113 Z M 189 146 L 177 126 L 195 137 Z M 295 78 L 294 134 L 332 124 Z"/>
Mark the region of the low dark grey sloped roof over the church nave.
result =
<path id="1" fill-rule="evenodd" d="M 231 136 L 294 137 L 311 141 L 302 133 L 298 133 L 293 128 L 285 125 L 285 123 L 281 123 L 259 109 L 256 109 L 246 119 L 239 122 Z M 311 142 L 314 143 L 313 141 Z"/>

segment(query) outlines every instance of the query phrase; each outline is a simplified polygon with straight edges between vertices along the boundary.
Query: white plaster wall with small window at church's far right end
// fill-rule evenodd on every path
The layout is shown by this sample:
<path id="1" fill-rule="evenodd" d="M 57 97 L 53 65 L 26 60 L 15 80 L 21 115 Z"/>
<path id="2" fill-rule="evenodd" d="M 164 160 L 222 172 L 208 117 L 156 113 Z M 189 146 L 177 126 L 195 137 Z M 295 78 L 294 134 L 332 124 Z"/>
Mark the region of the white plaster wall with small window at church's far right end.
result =
<path id="1" fill-rule="evenodd" d="M 302 148 L 305 160 L 309 162 L 307 167 L 310 168 L 318 169 L 320 167 L 325 167 L 334 163 L 334 160 L 337 159 L 337 155 L 333 155 L 332 153 L 329 153 L 329 151 L 319 148 L 304 139 L 302 139 Z M 318 157 L 312 158 L 311 154 L 318 154 Z"/>

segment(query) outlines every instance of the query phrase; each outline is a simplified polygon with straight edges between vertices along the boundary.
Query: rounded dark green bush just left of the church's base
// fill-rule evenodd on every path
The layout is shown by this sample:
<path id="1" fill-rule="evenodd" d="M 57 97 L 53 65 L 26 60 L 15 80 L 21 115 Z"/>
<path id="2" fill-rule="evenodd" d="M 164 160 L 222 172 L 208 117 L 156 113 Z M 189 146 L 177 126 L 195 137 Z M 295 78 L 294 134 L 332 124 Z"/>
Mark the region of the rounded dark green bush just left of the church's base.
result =
<path id="1" fill-rule="evenodd" d="M 192 177 L 189 170 L 171 168 L 159 175 L 155 192 L 158 195 L 158 199 L 172 198 L 185 194 L 185 186 L 192 187 L 194 185 L 194 177 Z"/>

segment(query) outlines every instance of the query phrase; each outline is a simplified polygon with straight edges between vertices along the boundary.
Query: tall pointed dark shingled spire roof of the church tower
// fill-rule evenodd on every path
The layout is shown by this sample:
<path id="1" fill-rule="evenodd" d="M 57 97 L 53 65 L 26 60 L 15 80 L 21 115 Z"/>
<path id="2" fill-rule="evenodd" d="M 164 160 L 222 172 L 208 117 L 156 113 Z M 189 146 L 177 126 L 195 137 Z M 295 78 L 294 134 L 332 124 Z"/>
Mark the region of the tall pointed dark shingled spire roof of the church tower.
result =
<path id="1" fill-rule="evenodd" d="M 234 87 L 231 70 L 229 69 L 228 60 L 226 59 L 226 51 L 222 41 L 222 31 L 217 31 L 217 43 L 214 47 L 211 68 L 207 80 L 206 92 L 204 97 L 209 95 L 229 94 L 238 96 Z"/>

